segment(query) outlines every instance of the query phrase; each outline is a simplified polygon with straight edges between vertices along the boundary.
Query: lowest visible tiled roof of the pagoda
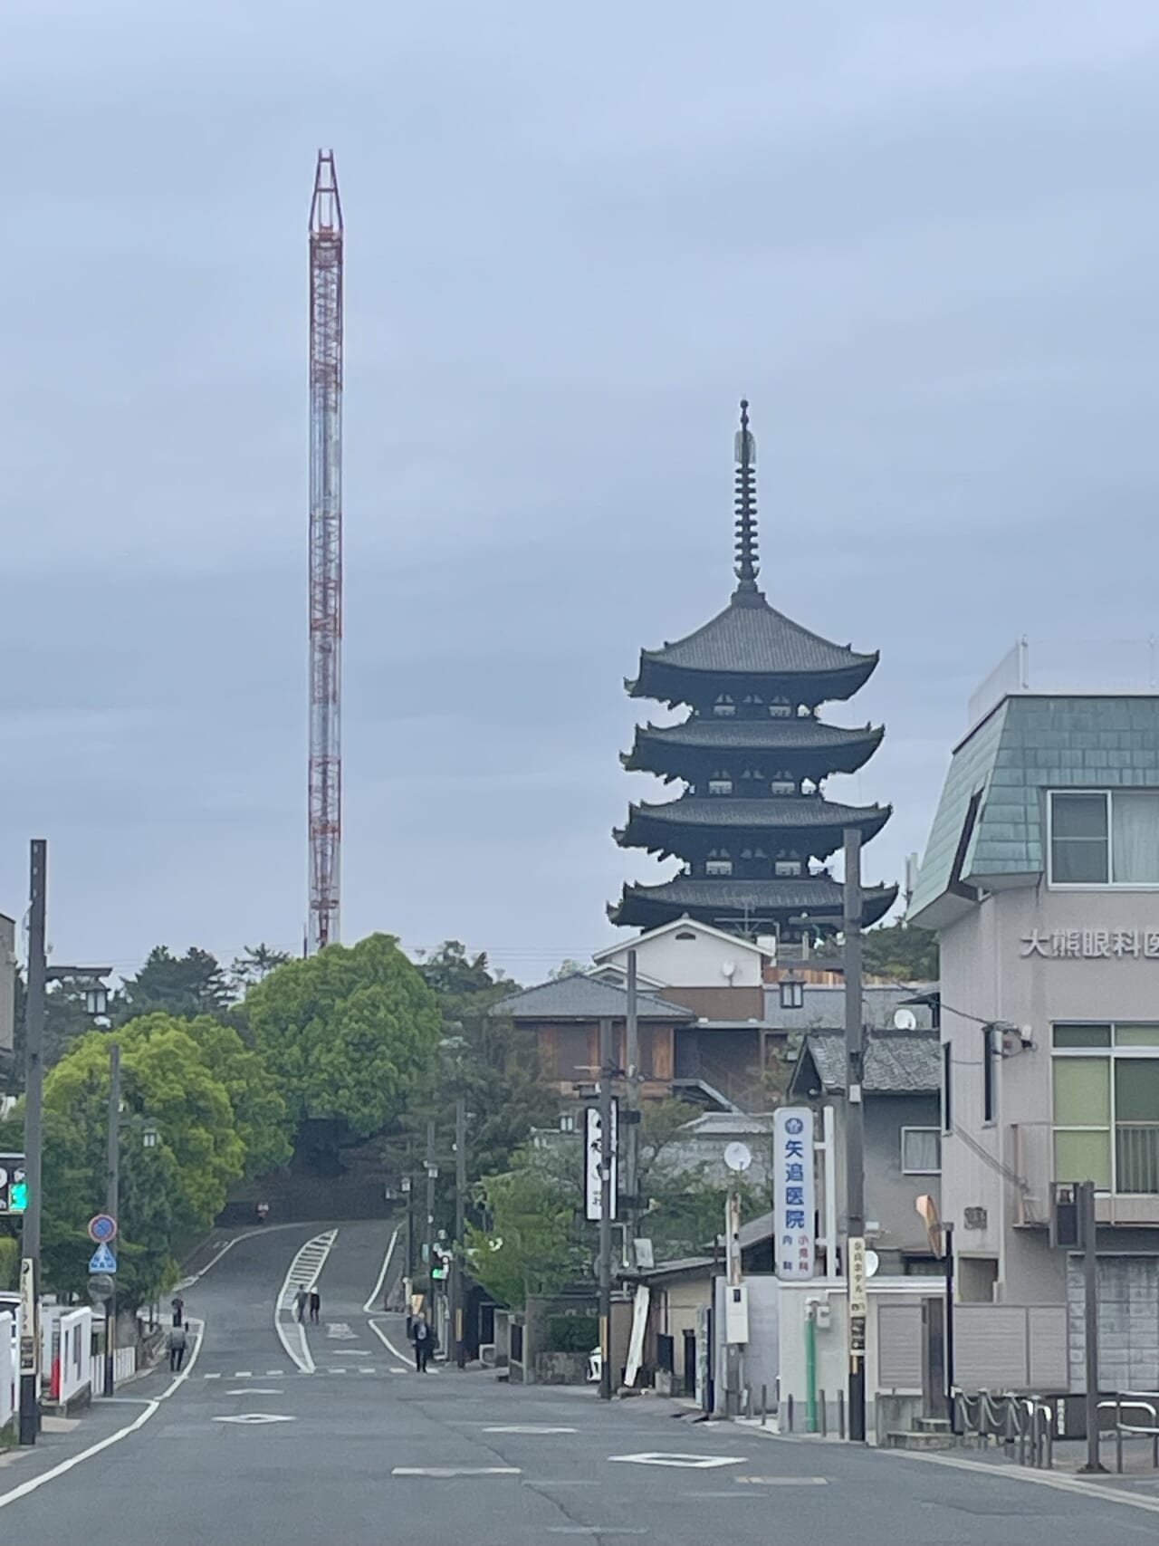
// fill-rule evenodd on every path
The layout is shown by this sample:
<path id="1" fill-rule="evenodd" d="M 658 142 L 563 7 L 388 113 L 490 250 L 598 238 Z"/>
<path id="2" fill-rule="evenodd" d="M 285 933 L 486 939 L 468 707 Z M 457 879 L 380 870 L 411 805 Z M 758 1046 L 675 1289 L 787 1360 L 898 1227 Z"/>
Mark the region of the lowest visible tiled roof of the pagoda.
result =
<path id="1" fill-rule="evenodd" d="M 862 921 L 867 926 L 878 923 L 896 897 L 896 886 L 867 886 L 862 890 Z M 799 880 L 677 875 L 660 886 L 624 886 L 620 901 L 609 906 L 607 915 L 612 923 L 646 929 L 681 914 L 711 921 L 725 918 L 756 923 L 805 912 L 811 918 L 838 923 L 844 906 L 844 886 L 828 873 Z"/>

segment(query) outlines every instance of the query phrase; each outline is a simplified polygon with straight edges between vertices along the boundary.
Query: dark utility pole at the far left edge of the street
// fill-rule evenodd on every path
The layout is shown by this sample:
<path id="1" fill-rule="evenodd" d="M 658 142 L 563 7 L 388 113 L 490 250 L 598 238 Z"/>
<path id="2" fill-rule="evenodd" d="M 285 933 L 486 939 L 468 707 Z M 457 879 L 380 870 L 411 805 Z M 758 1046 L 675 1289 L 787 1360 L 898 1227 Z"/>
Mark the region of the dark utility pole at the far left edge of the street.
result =
<path id="1" fill-rule="evenodd" d="M 40 1194 L 43 1172 L 45 1099 L 45 912 L 48 906 L 48 843 L 32 838 L 28 887 L 28 994 L 25 997 L 25 1178 L 28 1207 L 20 1248 L 20 1442 L 36 1444 L 40 1432 Z"/>

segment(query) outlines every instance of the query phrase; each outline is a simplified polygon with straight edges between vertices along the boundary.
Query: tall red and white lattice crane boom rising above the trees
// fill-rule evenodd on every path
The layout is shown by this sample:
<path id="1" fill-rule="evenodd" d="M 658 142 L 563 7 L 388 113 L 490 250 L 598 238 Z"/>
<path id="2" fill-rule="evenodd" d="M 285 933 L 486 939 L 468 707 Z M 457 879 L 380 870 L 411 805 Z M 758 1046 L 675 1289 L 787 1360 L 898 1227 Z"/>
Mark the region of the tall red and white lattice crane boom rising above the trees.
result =
<path id="1" fill-rule="evenodd" d="M 311 201 L 309 923 L 314 955 L 338 940 L 342 856 L 342 203 L 334 152 Z"/>

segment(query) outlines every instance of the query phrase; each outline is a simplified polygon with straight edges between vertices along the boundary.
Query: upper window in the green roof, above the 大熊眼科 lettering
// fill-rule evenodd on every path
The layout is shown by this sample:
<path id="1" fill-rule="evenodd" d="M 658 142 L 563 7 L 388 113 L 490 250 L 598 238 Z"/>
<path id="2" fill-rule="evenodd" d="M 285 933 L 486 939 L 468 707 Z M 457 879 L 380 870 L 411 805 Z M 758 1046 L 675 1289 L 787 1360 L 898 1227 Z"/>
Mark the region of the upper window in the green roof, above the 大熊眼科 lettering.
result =
<path id="1" fill-rule="evenodd" d="M 1052 886 L 1159 886 L 1159 790 L 1049 796 Z"/>

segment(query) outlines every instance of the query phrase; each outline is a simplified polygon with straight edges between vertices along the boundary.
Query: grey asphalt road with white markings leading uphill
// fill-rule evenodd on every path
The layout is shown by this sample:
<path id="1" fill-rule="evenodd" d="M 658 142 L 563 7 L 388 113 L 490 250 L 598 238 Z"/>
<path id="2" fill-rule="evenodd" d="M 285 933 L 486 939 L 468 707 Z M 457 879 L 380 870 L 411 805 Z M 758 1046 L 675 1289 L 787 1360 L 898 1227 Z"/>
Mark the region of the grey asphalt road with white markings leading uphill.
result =
<path id="1" fill-rule="evenodd" d="M 485 1373 L 422 1377 L 402 1356 L 402 1322 L 377 1308 L 383 1224 L 337 1226 L 318 1326 L 303 1345 L 283 1325 L 295 1359 L 275 1300 L 326 1234 L 270 1228 L 232 1246 L 185 1291 L 204 1336 L 181 1381 L 130 1385 L 0 1466 L 0 1541 L 1122 1546 L 1159 1531 L 1154 1512 L 1106 1498 L 697 1424 L 652 1398 L 601 1407 L 586 1390 Z"/>

